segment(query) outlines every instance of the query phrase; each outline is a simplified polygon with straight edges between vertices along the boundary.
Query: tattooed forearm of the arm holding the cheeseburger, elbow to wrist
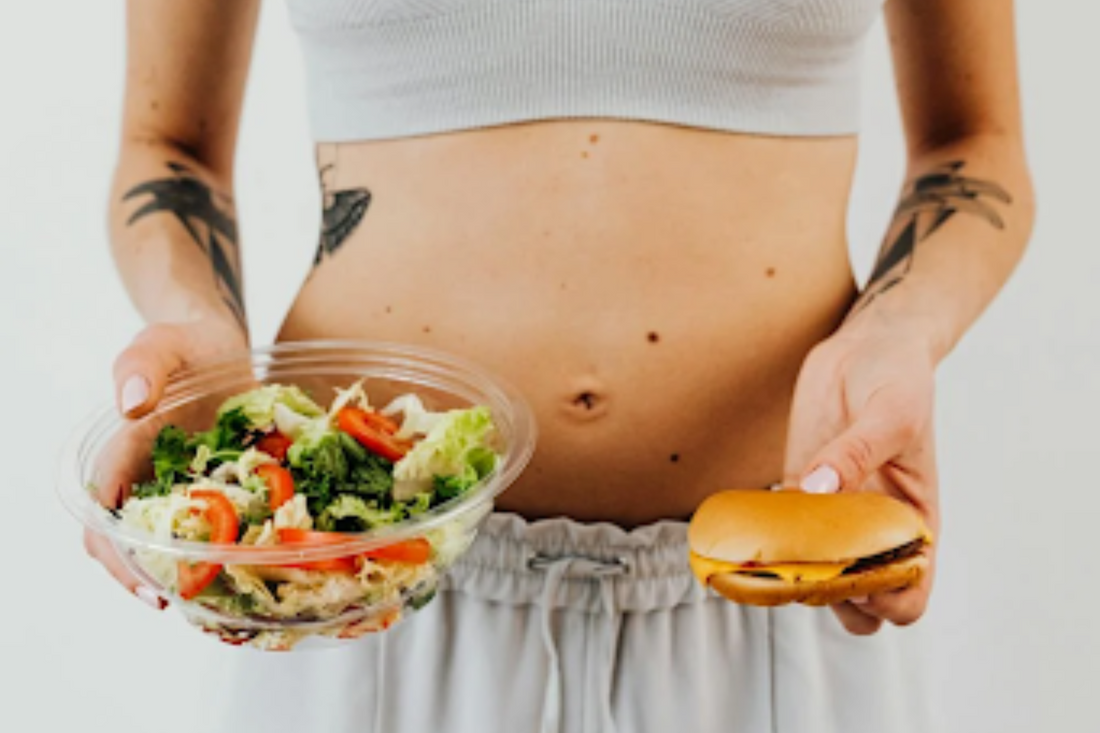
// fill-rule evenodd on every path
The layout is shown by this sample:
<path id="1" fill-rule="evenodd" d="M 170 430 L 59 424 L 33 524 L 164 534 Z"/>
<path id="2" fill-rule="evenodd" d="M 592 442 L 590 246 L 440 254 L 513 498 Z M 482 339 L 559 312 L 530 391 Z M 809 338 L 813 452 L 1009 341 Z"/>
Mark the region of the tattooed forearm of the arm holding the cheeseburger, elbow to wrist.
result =
<path id="1" fill-rule="evenodd" d="M 1018 140 L 974 136 L 913 156 L 876 267 L 843 330 L 909 329 L 938 363 L 1009 278 L 1033 219 Z"/>

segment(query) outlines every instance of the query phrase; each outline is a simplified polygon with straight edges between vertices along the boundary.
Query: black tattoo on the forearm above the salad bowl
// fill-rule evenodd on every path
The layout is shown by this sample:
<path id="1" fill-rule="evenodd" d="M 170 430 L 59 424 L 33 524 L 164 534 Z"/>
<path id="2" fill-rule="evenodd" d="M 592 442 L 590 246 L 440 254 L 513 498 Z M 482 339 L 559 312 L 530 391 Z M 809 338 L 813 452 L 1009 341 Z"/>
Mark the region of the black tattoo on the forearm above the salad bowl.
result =
<path id="1" fill-rule="evenodd" d="M 244 296 L 240 276 L 240 251 L 233 201 L 211 190 L 186 166 L 168 163 L 170 178 L 147 180 L 131 188 L 122 200 L 148 196 L 144 206 L 134 211 L 127 225 L 151 214 L 174 214 L 199 249 L 210 259 L 215 282 L 222 302 L 245 327 Z"/>

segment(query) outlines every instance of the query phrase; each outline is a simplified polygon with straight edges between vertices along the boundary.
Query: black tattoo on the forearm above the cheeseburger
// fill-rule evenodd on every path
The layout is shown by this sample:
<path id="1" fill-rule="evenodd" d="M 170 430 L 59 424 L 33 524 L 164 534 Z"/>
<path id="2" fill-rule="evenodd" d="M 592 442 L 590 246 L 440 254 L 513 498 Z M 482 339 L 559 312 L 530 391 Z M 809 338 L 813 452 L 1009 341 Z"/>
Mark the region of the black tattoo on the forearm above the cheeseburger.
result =
<path id="1" fill-rule="evenodd" d="M 957 212 L 979 216 L 997 229 L 1004 229 L 1004 219 L 991 201 L 1011 204 L 1012 197 L 994 183 L 960 175 L 964 165 L 963 161 L 941 165 L 917 178 L 902 196 L 894 212 L 894 222 L 902 226 L 901 232 L 883 244 L 853 314 L 898 285 L 913 267 L 916 245 Z M 899 265 L 904 265 L 900 272 Z"/>

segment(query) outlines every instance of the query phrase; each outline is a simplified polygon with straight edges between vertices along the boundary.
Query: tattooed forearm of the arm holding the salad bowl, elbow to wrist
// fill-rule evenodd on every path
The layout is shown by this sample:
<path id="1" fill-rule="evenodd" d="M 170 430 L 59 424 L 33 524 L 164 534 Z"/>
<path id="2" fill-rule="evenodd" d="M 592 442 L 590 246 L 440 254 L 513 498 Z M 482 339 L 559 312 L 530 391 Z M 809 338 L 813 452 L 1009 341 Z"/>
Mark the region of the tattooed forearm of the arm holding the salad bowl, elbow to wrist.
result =
<path id="1" fill-rule="evenodd" d="M 167 141 L 124 141 L 111 193 L 111 244 L 146 321 L 212 319 L 248 338 L 227 177 Z"/>

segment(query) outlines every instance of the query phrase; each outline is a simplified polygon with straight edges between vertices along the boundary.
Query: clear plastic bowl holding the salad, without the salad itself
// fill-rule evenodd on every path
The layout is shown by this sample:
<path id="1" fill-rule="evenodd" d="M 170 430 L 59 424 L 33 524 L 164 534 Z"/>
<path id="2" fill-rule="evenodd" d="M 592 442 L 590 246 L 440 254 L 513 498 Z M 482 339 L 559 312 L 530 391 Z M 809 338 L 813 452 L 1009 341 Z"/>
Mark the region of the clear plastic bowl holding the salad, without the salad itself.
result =
<path id="1" fill-rule="evenodd" d="M 384 405 L 405 393 L 417 394 L 428 409 L 485 405 L 493 415 L 501 459 L 496 469 L 465 493 L 399 524 L 348 534 L 339 545 L 239 546 L 165 539 L 123 525 L 114 510 L 127 488 L 152 475 L 151 451 L 165 425 L 188 431 L 209 429 L 218 406 L 260 384 L 293 384 L 322 405 L 363 380 L 372 404 Z M 108 537 L 143 582 L 168 599 L 196 626 L 231 644 L 288 649 L 307 637 L 356 638 L 388 628 L 435 594 L 439 581 L 473 541 L 494 499 L 530 460 L 536 426 L 519 394 L 482 368 L 424 348 L 354 341 L 308 341 L 255 349 L 197 365 L 175 375 L 157 409 L 140 420 L 124 420 L 113 406 L 89 417 L 66 448 L 58 491 L 68 510 L 92 532 Z M 293 617 L 227 610 L 200 593 L 188 601 L 174 587 L 177 560 L 234 566 L 285 566 L 360 555 L 394 543 L 425 538 L 432 546 L 428 564 L 380 583 L 377 592 L 336 606 L 311 609 Z M 381 590 L 385 586 L 385 590 Z M 205 602 L 206 601 L 206 602 Z"/>

